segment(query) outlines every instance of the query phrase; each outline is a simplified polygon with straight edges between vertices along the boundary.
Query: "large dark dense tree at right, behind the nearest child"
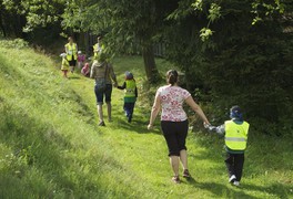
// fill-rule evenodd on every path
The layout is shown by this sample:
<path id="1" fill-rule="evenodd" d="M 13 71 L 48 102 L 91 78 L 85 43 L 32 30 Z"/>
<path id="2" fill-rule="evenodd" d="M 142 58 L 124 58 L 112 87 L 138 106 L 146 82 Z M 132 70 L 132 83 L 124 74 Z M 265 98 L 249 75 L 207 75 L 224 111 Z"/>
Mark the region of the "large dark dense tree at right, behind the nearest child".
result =
<path id="1" fill-rule="evenodd" d="M 214 107 L 243 106 L 251 119 L 266 124 L 260 125 L 265 132 L 275 134 L 284 124 L 292 128 L 293 35 L 284 31 L 283 13 L 292 8 L 250 0 L 180 4 L 170 14 L 173 25 L 165 40 L 169 59 L 190 73 L 188 81 L 202 81 Z"/>

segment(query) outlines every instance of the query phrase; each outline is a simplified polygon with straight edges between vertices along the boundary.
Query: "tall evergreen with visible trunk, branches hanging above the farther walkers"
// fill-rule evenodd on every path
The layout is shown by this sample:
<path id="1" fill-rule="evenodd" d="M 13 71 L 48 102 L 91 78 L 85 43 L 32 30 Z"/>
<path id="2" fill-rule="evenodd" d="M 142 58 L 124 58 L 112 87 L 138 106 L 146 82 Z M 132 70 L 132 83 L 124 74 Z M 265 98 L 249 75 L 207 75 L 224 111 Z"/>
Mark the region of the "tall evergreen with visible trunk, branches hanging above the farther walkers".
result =
<path id="1" fill-rule="evenodd" d="M 65 24 L 82 27 L 97 33 L 104 32 L 108 46 L 112 51 L 131 52 L 131 46 L 140 45 L 146 77 L 150 82 L 155 82 L 159 78 L 159 72 L 154 61 L 153 44 L 160 34 L 165 14 L 162 2 L 100 0 L 82 1 L 81 4 L 79 8 L 71 7 L 67 10 Z"/>

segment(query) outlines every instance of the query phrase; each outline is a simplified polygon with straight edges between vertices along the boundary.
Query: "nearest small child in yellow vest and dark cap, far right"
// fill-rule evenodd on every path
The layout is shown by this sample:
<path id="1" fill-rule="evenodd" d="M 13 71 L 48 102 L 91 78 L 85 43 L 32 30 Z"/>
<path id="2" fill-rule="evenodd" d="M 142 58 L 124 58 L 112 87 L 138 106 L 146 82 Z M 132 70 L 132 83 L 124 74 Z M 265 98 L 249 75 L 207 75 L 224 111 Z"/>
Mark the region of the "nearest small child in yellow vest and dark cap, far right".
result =
<path id="1" fill-rule="evenodd" d="M 229 172 L 229 182 L 240 186 L 250 124 L 243 121 L 239 106 L 231 107 L 230 117 L 231 121 L 226 121 L 221 126 L 206 125 L 205 127 L 209 130 L 215 130 L 220 135 L 225 134 L 225 165 Z"/>

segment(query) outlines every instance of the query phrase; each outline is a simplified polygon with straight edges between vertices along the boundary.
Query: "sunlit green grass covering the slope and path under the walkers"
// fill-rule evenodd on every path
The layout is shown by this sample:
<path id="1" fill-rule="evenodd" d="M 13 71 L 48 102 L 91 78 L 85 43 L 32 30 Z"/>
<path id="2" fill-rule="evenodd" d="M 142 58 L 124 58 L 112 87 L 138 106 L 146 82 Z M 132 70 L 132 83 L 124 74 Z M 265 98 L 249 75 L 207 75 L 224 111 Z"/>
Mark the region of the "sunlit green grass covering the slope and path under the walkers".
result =
<path id="1" fill-rule="evenodd" d="M 17 45 L 20 46 L 20 45 Z M 133 123 L 113 91 L 113 122 L 98 127 L 93 81 L 62 78 L 54 57 L 0 41 L 0 198 L 292 198 L 292 139 L 250 132 L 240 188 L 228 184 L 223 139 L 190 132 L 194 180 L 171 182 L 165 142 L 146 130 L 155 87 L 142 59 L 113 60 L 119 82 L 132 71 L 141 94 Z M 163 74 L 169 64 L 158 60 Z M 104 109 L 105 112 L 105 109 Z"/>

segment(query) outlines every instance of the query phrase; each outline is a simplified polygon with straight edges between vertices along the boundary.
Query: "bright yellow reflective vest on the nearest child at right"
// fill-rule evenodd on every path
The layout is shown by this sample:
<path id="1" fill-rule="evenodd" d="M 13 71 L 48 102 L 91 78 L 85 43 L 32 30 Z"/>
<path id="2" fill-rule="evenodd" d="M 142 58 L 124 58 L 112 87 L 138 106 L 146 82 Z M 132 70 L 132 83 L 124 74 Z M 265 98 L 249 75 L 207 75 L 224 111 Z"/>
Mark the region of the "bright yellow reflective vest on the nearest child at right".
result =
<path id="1" fill-rule="evenodd" d="M 245 150 L 250 124 L 243 122 L 236 124 L 233 121 L 225 122 L 225 145 L 232 150 Z"/>

